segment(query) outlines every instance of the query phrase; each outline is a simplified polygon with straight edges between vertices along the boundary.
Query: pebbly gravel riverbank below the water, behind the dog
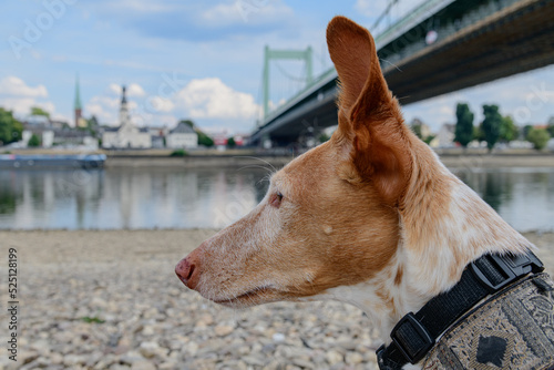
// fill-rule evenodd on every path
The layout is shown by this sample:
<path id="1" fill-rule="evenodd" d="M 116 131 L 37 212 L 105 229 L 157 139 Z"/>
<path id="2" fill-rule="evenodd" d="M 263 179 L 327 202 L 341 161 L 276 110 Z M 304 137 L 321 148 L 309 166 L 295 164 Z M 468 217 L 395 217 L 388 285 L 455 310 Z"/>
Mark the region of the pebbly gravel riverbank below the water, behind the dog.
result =
<path id="1" fill-rule="evenodd" d="M 20 302 L 18 361 L 2 349 L 0 370 L 377 368 L 378 333 L 353 307 L 234 311 L 188 291 L 174 266 L 214 233 L 0 232 L 2 266 L 17 249 Z M 554 234 L 525 236 L 554 273 Z M 10 300 L 3 271 L 2 307 Z"/>

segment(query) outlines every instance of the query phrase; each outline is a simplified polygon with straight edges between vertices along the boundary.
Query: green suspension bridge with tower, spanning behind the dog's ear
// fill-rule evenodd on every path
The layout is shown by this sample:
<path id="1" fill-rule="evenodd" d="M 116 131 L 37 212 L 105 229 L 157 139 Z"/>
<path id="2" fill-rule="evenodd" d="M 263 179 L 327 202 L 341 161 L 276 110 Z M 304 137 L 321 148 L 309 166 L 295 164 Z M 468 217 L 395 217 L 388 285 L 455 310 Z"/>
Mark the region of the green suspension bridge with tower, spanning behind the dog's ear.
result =
<path id="1" fill-rule="evenodd" d="M 376 24 L 398 1 L 389 1 Z M 428 0 L 378 33 L 376 44 L 389 89 L 407 105 L 554 63 L 554 0 Z M 337 72 L 314 78 L 312 56 L 311 48 L 266 47 L 264 116 L 252 144 L 301 143 L 337 124 Z M 283 73 L 300 89 L 270 104 L 271 61 L 283 59 L 304 62 L 304 75 Z"/>

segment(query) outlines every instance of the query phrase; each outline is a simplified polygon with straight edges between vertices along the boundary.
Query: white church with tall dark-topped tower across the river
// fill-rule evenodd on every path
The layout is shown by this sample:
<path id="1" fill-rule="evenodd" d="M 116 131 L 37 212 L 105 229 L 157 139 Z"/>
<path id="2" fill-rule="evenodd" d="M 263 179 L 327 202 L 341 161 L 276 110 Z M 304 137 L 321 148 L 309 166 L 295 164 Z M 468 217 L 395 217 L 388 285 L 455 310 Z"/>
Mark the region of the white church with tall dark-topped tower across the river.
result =
<path id="1" fill-rule="evenodd" d="M 105 148 L 151 148 L 152 137 L 148 129 L 136 127 L 129 114 L 125 86 L 122 86 L 120 126 L 109 127 L 102 134 L 102 147 Z"/>

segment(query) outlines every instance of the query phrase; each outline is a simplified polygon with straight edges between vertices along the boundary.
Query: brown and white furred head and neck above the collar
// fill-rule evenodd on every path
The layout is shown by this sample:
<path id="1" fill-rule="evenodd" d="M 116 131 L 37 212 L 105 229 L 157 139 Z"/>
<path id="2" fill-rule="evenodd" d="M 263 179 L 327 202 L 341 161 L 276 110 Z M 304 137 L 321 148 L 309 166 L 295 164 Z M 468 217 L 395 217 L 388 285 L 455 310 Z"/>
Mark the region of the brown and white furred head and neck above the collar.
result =
<path id="1" fill-rule="evenodd" d="M 327 43 L 340 80 L 337 131 L 275 173 L 260 204 L 176 273 L 228 307 L 352 304 L 388 343 L 396 322 L 470 261 L 533 245 L 407 127 L 366 29 L 337 17 Z"/>

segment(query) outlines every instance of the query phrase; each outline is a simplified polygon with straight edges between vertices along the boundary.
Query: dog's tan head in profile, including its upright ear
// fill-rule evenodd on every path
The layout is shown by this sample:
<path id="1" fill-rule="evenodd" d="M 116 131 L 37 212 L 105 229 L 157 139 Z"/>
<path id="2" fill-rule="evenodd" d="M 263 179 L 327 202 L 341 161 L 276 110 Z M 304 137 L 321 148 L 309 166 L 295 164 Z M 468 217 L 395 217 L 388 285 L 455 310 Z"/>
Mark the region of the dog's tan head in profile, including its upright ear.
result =
<path id="1" fill-rule="evenodd" d="M 370 33 L 337 17 L 327 42 L 340 79 L 339 127 L 274 174 L 247 216 L 179 263 L 181 279 L 208 299 L 248 306 L 315 296 L 370 279 L 396 253 L 416 138 Z"/>

